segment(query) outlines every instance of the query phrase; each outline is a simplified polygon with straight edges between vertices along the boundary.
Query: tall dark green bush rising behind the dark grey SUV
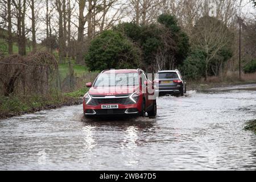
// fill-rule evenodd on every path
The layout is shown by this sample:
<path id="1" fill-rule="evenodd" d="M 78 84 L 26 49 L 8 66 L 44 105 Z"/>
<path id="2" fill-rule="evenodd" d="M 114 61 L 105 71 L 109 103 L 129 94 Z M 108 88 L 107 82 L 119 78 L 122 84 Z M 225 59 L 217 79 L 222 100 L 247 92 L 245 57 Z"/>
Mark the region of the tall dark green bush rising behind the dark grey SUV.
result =
<path id="1" fill-rule="evenodd" d="M 189 52 L 189 38 L 177 24 L 175 16 L 162 14 L 158 23 L 120 23 L 113 28 L 137 44 L 142 51 L 142 68 L 149 71 L 156 65 L 156 59 L 165 57 L 164 67 L 176 67 L 183 63 Z M 173 65 L 170 65 L 173 64 Z"/>

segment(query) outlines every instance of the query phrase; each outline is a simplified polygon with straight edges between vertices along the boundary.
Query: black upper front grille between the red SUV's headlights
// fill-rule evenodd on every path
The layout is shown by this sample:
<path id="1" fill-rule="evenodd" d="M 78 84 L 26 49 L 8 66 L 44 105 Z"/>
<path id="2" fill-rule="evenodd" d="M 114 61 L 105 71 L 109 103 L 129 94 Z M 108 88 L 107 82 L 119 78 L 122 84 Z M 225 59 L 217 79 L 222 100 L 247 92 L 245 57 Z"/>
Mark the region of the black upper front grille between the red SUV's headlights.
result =
<path id="1" fill-rule="evenodd" d="M 99 104 L 123 104 L 129 105 L 134 104 L 129 97 L 126 98 L 92 98 L 88 105 L 97 106 Z"/>

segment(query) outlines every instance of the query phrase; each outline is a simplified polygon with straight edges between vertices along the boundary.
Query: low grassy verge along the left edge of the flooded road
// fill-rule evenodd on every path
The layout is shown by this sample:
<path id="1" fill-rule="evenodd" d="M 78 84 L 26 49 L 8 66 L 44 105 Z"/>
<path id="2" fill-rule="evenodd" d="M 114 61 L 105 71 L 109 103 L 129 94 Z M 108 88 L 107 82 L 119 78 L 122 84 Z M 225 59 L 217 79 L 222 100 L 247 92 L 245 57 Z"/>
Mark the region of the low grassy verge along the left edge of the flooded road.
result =
<path id="1" fill-rule="evenodd" d="M 40 110 L 56 109 L 61 106 L 82 104 L 82 96 L 88 88 L 81 88 L 71 93 L 53 93 L 47 96 L 10 96 L 0 97 L 0 118 L 34 113 Z"/>

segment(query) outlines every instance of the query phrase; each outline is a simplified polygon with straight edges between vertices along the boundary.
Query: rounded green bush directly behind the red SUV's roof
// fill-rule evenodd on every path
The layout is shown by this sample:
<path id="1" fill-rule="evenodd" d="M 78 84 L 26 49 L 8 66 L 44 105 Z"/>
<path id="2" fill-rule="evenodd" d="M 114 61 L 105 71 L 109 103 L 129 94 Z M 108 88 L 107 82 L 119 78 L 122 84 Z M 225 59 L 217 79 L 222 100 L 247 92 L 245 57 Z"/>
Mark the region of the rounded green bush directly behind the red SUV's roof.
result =
<path id="1" fill-rule="evenodd" d="M 91 71 L 138 68 L 139 49 L 121 32 L 106 30 L 92 40 L 85 63 Z"/>

